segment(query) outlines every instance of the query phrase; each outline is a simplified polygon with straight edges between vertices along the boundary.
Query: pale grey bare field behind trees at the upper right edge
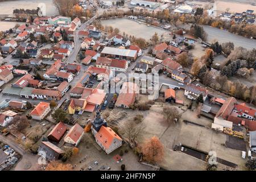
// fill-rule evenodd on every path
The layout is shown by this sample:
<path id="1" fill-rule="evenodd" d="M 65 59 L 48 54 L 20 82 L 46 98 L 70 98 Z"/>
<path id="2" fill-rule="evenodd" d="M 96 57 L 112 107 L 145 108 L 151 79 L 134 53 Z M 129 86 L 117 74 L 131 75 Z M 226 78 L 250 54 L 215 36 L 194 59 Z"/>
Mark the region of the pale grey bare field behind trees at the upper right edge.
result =
<path id="1" fill-rule="evenodd" d="M 234 35 L 228 31 L 220 30 L 210 26 L 203 26 L 205 32 L 208 34 L 208 42 L 217 40 L 220 43 L 233 42 L 235 47 L 244 47 L 246 49 L 252 49 L 256 47 L 255 39 L 248 39 L 240 35 Z"/>

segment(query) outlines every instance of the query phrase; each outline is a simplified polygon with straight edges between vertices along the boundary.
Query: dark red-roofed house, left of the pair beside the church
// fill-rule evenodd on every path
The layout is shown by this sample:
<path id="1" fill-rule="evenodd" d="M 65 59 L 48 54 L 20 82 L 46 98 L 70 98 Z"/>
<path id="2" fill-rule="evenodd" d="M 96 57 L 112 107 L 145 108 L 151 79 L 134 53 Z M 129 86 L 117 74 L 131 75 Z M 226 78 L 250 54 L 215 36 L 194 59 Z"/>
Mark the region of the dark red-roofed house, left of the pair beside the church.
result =
<path id="1" fill-rule="evenodd" d="M 55 127 L 53 127 L 51 132 L 47 135 L 47 138 L 51 142 L 59 143 L 61 138 L 64 137 L 67 130 L 68 127 L 63 122 L 59 122 L 57 123 L 57 125 L 55 125 Z"/>

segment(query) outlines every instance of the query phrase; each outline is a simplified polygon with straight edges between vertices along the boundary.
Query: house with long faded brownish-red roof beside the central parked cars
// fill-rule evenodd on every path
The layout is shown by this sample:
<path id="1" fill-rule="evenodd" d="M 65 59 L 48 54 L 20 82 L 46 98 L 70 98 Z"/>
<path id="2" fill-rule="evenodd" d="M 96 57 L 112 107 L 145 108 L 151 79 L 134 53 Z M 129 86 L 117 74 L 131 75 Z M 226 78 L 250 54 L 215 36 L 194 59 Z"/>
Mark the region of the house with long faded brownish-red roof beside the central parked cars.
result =
<path id="1" fill-rule="evenodd" d="M 134 104 L 137 94 L 139 93 L 138 85 L 133 82 L 124 82 L 119 92 L 116 107 L 130 108 Z"/>

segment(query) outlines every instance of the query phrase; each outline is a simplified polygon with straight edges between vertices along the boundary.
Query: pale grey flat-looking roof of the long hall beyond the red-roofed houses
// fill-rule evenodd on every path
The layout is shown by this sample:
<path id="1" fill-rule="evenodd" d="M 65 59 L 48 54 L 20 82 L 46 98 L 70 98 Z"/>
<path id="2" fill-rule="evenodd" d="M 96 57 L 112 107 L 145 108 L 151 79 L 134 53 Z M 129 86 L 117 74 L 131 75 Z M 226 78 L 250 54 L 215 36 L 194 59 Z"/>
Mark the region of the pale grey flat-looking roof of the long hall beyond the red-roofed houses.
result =
<path id="1" fill-rule="evenodd" d="M 114 47 L 104 47 L 101 53 L 106 53 L 109 55 L 128 56 L 128 57 L 135 57 L 137 55 L 137 51 L 135 50 L 119 49 Z"/>

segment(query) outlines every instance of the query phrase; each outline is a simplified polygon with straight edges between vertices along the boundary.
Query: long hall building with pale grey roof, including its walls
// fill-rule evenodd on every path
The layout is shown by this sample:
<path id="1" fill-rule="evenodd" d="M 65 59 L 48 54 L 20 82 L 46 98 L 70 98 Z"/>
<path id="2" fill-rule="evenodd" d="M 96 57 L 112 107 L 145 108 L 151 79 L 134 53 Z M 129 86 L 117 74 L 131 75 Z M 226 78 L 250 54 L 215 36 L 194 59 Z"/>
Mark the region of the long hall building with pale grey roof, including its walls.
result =
<path id="1" fill-rule="evenodd" d="M 137 58 L 137 51 L 131 49 L 104 47 L 101 51 L 101 57 L 135 61 Z"/>

